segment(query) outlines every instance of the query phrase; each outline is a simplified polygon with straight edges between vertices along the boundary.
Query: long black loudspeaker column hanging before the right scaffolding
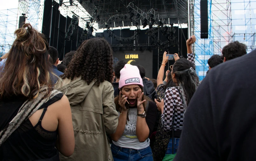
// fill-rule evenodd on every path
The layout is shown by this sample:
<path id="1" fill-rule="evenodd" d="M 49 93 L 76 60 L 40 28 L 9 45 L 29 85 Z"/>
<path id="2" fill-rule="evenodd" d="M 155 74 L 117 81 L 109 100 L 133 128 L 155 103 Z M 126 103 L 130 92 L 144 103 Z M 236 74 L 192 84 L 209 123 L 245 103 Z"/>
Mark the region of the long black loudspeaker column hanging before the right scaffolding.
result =
<path id="1" fill-rule="evenodd" d="M 208 39 L 208 1 L 200 1 L 201 39 Z"/>

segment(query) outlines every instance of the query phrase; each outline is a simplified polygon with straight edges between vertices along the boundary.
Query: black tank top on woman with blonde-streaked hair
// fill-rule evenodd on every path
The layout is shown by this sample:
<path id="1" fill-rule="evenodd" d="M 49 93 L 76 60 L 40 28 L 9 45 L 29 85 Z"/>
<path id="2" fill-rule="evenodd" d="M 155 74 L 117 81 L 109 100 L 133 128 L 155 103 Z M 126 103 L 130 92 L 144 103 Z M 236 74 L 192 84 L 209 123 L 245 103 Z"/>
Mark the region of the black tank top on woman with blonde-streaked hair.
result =
<path id="1" fill-rule="evenodd" d="M 39 109 L 44 108 L 44 111 L 36 126 L 33 126 L 29 119 L 25 120 L 15 130 L 10 137 L 0 147 L 0 160 L 40 160 L 58 156 L 58 151 L 55 148 L 57 140 L 57 131 L 50 132 L 45 130 L 41 121 L 47 110 L 47 107 L 54 102 L 60 100 L 63 94 L 57 94 L 51 100 L 48 100 Z M 8 101 L 0 101 L 0 131 L 6 123 L 12 120 L 20 106 L 25 100 L 12 99 Z M 3 124 L 5 123 L 5 124 Z M 59 160 L 59 158 L 55 158 Z"/>

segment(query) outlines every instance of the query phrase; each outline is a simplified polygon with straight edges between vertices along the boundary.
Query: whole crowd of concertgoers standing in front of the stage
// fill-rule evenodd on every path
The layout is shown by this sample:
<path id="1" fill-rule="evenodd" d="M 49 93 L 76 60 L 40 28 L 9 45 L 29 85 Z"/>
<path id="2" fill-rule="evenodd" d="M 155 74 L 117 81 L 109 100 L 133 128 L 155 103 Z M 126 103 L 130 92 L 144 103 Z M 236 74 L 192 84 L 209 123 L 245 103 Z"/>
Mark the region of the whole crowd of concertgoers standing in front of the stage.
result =
<path id="1" fill-rule="evenodd" d="M 232 42 L 203 81 L 187 59 L 163 54 L 157 79 L 118 61 L 103 38 L 59 61 L 29 23 L 0 58 L 0 161 L 255 160 L 255 51 Z M 225 63 L 223 63 L 225 62 Z"/>

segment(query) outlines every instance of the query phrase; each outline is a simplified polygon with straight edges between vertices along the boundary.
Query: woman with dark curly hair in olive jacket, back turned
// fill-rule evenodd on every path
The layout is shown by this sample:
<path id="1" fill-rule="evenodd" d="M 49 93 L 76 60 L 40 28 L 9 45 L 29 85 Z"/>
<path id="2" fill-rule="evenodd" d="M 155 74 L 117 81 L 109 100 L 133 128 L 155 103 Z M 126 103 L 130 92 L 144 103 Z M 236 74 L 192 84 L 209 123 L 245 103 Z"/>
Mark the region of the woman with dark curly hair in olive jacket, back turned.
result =
<path id="1" fill-rule="evenodd" d="M 66 93 L 72 112 L 75 151 L 61 160 L 113 160 L 106 133 L 118 125 L 111 84 L 112 49 L 102 38 L 86 40 L 78 48 L 56 89 Z"/>

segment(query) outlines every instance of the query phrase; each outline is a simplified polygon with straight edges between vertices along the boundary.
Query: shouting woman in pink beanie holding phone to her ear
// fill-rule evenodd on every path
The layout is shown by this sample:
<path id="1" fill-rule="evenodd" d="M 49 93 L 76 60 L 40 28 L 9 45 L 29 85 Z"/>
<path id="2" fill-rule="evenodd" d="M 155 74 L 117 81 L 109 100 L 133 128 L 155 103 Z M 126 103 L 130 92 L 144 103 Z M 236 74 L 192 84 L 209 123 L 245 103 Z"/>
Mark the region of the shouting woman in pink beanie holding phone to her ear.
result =
<path id="1" fill-rule="evenodd" d="M 153 161 L 148 137 L 155 126 L 157 106 L 143 93 L 138 67 L 125 64 L 120 71 L 119 88 L 115 98 L 118 127 L 111 134 L 114 161 Z"/>

